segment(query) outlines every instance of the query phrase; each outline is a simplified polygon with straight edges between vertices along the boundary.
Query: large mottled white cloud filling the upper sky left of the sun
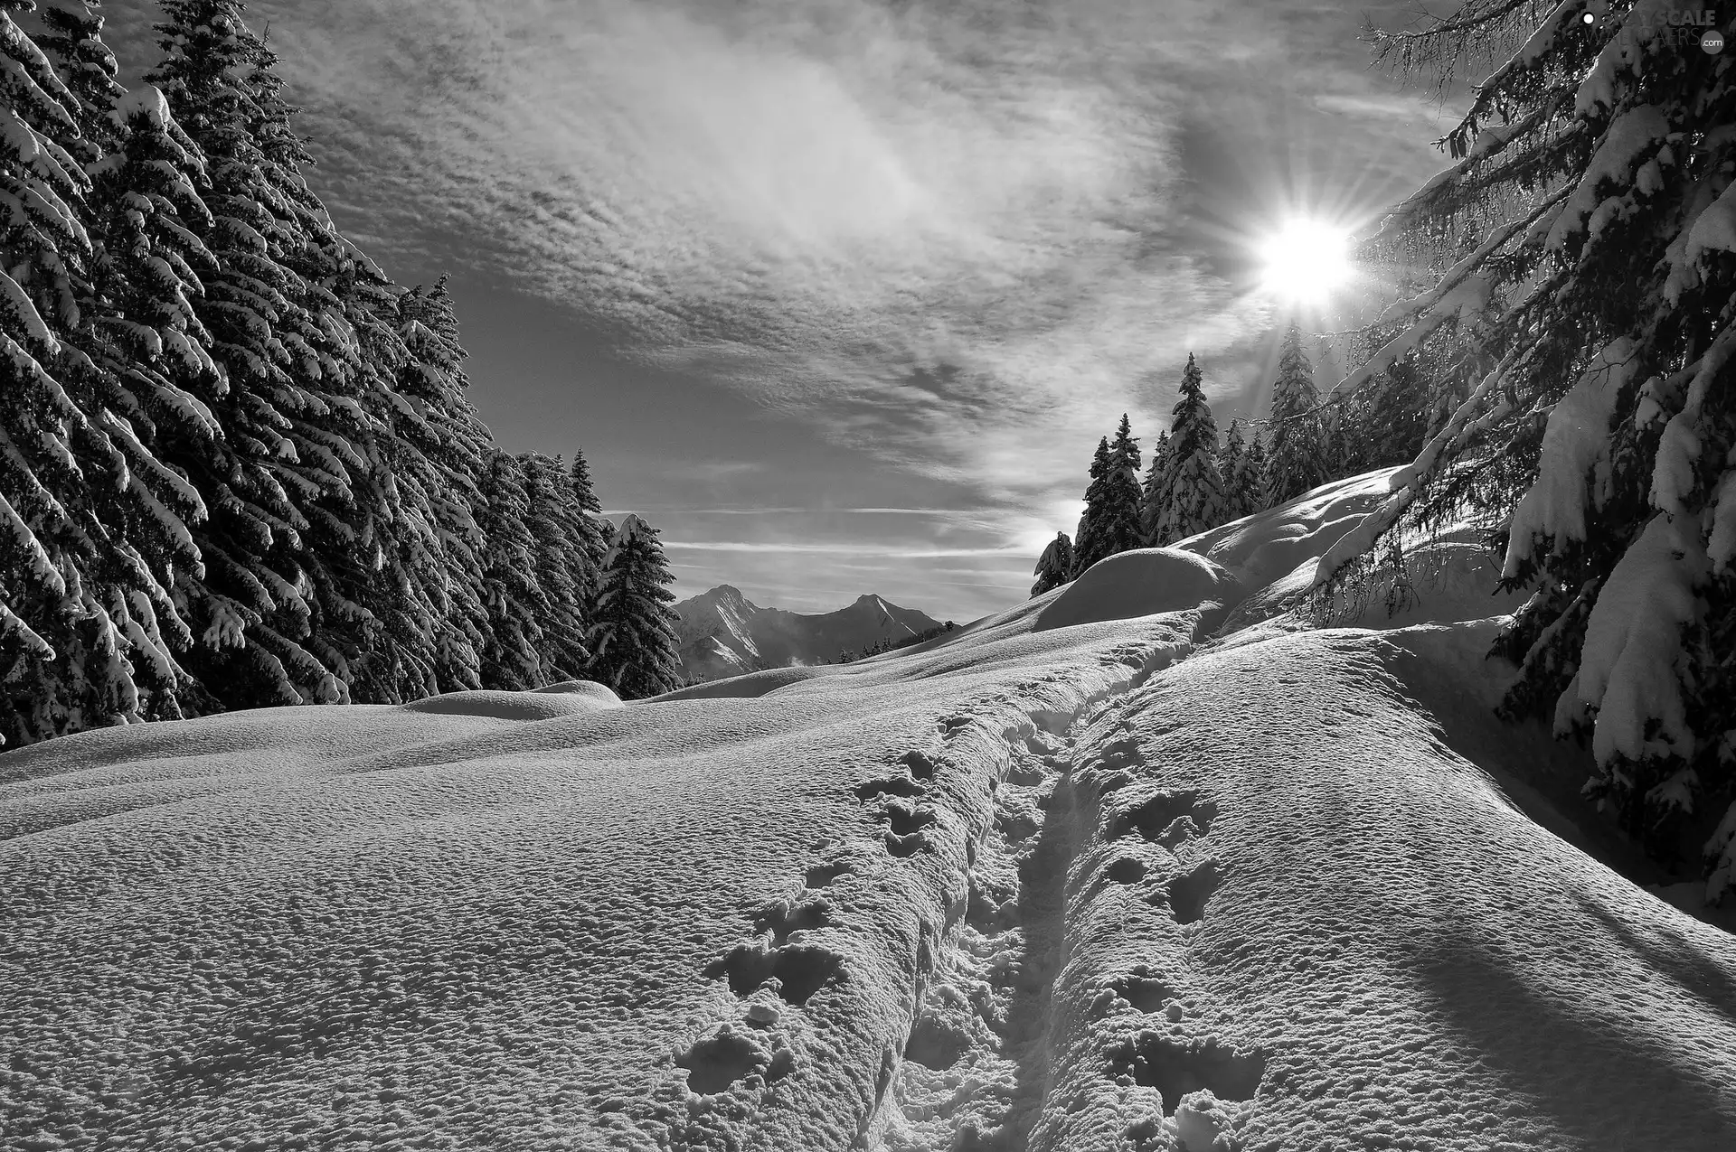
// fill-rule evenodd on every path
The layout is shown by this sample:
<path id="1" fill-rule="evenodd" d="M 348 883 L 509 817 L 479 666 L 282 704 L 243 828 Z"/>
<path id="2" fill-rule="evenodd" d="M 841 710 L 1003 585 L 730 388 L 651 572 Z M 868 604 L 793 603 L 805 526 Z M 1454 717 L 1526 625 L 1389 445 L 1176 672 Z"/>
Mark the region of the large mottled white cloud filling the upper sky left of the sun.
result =
<path id="1" fill-rule="evenodd" d="M 1167 239 L 1213 5 L 253 10 L 340 215 L 469 243 L 646 361 L 991 498 L 1266 321 Z"/>

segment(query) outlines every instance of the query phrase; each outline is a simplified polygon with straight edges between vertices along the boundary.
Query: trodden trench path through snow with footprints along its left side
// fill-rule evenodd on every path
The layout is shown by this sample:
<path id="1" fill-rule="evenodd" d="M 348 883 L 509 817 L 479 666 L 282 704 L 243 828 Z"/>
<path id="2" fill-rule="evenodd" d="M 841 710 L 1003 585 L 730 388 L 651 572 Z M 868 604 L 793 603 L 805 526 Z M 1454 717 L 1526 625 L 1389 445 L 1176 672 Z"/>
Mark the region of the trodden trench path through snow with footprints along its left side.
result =
<path id="1" fill-rule="evenodd" d="M 792 1069 L 812 1079 L 814 1025 L 861 1053 L 844 1095 L 854 1103 L 833 1105 L 858 1117 L 852 1147 L 1026 1147 L 1049 1079 L 1071 859 L 1057 788 L 1069 741 L 1052 732 L 1184 656 L 1200 625 L 1200 612 L 1154 619 L 1146 640 L 1104 651 L 1095 673 L 969 699 L 856 784 L 878 836 L 825 843 L 800 890 L 762 907 L 752 935 L 707 968 L 741 1011 L 677 1053 L 708 1105 L 707 1131 L 684 1131 L 693 1147 L 792 1147 L 774 1133 L 799 1126 L 811 1100 L 779 1084 Z M 741 1095 L 755 1107 L 736 1110 Z"/>

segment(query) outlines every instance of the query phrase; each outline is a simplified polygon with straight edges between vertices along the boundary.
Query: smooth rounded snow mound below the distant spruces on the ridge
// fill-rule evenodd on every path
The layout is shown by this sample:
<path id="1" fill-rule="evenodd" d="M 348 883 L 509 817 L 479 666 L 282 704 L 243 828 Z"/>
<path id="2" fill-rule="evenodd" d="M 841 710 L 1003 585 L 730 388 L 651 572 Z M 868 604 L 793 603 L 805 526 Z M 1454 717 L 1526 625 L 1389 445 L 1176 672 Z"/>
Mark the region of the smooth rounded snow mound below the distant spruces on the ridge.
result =
<path id="1" fill-rule="evenodd" d="M 1097 560 L 1038 612 L 1035 632 L 1177 612 L 1241 599 L 1236 578 L 1182 548 L 1137 548 Z"/>

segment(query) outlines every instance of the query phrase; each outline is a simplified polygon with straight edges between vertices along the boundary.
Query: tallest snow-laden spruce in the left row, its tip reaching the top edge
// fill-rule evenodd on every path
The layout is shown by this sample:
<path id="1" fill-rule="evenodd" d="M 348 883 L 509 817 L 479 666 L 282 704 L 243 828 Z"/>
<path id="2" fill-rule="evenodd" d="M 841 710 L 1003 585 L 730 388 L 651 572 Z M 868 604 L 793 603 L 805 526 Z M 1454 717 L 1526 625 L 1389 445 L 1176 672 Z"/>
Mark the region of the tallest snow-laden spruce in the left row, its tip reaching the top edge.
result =
<path id="1" fill-rule="evenodd" d="M 146 78 L 207 161 L 214 219 L 194 231 L 217 267 L 201 278 L 194 311 L 224 373 L 210 403 L 220 451 L 175 460 L 210 508 L 196 531 L 205 581 L 177 586 L 200 638 L 187 666 L 227 708 L 344 701 L 342 649 L 356 644 L 318 633 L 311 533 L 319 520 L 333 555 L 352 533 L 330 510 L 352 503 L 349 468 L 361 465 L 332 427 L 359 422 L 347 396 L 352 364 L 345 349 L 333 354 L 345 324 L 335 305 L 309 314 L 312 288 L 286 267 L 309 243 L 283 193 L 299 173 L 283 172 L 281 149 L 267 153 L 262 141 L 276 142 L 273 125 L 288 113 L 259 82 L 273 57 L 241 23 L 240 0 L 163 0 L 161 9 L 165 59 Z M 349 616 L 361 623 L 359 612 Z"/>

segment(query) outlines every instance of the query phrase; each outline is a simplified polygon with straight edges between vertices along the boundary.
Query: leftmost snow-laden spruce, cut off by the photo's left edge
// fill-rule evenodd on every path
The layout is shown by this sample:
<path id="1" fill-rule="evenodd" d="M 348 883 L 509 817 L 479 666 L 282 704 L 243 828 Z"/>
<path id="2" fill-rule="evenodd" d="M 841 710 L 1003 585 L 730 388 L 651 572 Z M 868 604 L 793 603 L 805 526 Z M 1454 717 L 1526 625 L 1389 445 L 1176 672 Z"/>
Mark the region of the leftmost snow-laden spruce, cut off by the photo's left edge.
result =
<path id="1" fill-rule="evenodd" d="M 200 501 L 139 439 L 92 314 L 90 109 L 0 5 L 0 737 L 175 715 L 186 630 L 172 566 L 196 566 Z M 87 54 L 106 57 L 95 38 Z M 113 95 L 111 90 L 108 90 Z"/>

